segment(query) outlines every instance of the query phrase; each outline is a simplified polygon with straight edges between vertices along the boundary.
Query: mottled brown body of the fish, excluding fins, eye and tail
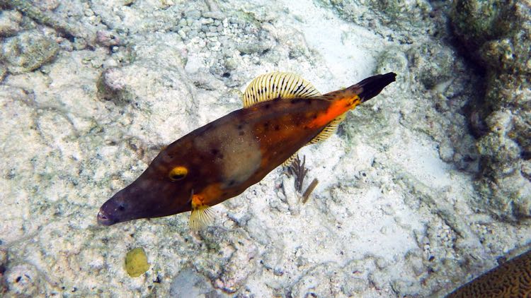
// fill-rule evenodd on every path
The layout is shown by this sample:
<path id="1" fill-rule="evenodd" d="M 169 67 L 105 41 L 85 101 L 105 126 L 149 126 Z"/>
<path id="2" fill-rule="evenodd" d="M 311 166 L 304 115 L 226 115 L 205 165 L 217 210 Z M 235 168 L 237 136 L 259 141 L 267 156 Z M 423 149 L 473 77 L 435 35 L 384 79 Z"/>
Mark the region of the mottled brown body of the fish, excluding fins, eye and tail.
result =
<path id="1" fill-rule="evenodd" d="M 330 104 L 319 99 L 263 102 L 188 133 L 162 150 L 137 181 L 113 197 L 113 213 L 122 213 L 115 220 L 190 211 L 192 191 L 203 193 L 207 205 L 239 195 L 316 136 L 320 129 L 304 128 L 305 124 Z M 179 183 L 161 174 L 177 166 L 188 168 L 190 179 Z M 135 202 L 145 203 L 132 209 L 135 197 Z"/>

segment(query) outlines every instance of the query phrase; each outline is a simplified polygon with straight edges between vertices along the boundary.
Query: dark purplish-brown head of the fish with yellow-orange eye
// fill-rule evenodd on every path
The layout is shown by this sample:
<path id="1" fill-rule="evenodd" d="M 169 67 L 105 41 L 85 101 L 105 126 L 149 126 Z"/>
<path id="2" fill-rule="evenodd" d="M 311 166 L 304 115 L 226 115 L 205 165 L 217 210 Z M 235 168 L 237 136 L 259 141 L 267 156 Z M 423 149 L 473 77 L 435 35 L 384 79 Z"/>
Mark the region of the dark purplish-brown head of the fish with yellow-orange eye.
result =
<path id="1" fill-rule="evenodd" d="M 103 203 L 98 223 L 114 225 L 189 211 L 193 190 L 202 187 L 197 169 L 193 158 L 163 150 L 138 179 Z"/>

